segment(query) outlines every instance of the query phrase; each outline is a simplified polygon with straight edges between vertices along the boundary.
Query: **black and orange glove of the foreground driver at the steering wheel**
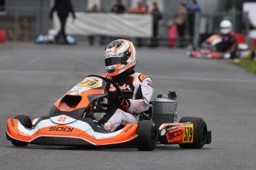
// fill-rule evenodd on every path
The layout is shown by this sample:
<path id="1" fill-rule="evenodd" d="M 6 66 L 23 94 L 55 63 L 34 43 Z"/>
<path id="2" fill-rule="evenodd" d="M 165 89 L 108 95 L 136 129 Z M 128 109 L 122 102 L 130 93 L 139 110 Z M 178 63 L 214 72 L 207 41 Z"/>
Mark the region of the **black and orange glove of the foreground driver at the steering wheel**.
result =
<path id="1" fill-rule="evenodd" d="M 131 102 L 128 99 L 122 95 L 118 96 L 116 92 L 109 92 L 108 99 L 113 105 L 118 106 L 119 109 L 122 109 L 125 112 L 127 112 L 131 106 Z"/>

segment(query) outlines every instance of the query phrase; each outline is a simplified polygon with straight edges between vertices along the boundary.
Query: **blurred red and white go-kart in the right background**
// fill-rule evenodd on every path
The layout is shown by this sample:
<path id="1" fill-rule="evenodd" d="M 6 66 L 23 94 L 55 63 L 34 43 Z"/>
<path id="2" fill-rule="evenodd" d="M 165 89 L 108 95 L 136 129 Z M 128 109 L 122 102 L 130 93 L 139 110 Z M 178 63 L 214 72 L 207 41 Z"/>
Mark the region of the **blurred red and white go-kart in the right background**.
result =
<path id="1" fill-rule="evenodd" d="M 249 45 L 239 43 L 229 50 L 223 49 L 222 37 L 220 35 L 211 35 L 198 48 L 188 50 L 187 55 L 191 58 L 213 58 L 213 59 L 254 59 L 255 51 L 249 49 Z M 221 49 L 221 50 L 220 50 Z M 223 52 L 224 51 L 224 52 Z"/>

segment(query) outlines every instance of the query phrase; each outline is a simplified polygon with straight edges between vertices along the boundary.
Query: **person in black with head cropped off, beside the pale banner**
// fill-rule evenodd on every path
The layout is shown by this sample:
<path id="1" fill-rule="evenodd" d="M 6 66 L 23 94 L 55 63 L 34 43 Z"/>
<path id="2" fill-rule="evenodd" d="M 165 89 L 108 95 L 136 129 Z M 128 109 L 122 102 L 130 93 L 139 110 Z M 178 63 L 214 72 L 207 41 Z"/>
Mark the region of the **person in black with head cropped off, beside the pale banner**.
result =
<path id="1" fill-rule="evenodd" d="M 65 34 L 65 24 L 66 24 L 69 13 L 72 13 L 73 19 L 76 18 L 73 10 L 73 5 L 71 4 L 70 0 L 55 0 L 53 8 L 50 10 L 50 16 L 49 16 L 50 20 L 53 19 L 54 11 L 57 12 L 57 15 L 59 17 L 59 21 L 61 24 L 61 28 L 59 30 L 59 33 L 56 35 L 55 40 L 59 41 L 60 36 L 62 36 L 64 39 L 64 43 L 68 44 L 67 35 Z"/>

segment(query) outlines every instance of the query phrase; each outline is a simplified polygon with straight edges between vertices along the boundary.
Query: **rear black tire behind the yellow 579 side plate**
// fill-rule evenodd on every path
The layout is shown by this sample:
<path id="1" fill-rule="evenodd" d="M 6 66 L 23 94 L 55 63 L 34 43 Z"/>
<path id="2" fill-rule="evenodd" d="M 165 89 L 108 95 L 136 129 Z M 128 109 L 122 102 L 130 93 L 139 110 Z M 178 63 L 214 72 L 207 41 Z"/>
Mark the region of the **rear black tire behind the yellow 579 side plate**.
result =
<path id="1" fill-rule="evenodd" d="M 194 140 L 193 143 L 181 143 L 180 148 L 188 149 L 200 149 L 206 144 L 207 140 L 207 126 L 206 122 L 202 118 L 195 117 L 183 117 L 180 119 L 180 123 L 191 122 L 194 125 Z"/>

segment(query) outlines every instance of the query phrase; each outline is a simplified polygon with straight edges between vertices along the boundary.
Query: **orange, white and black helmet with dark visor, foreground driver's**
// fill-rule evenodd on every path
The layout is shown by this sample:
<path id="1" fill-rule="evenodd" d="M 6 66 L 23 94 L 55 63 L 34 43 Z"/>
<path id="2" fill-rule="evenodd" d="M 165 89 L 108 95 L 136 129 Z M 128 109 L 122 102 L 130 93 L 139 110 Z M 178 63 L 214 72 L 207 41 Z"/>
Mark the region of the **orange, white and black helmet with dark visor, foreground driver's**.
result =
<path id="1" fill-rule="evenodd" d="M 131 41 L 117 39 L 105 48 L 105 67 L 111 77 L 135 67 L 136 63 L 136 50 Z"/>

